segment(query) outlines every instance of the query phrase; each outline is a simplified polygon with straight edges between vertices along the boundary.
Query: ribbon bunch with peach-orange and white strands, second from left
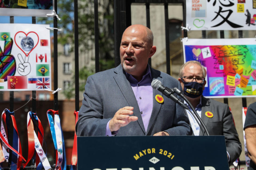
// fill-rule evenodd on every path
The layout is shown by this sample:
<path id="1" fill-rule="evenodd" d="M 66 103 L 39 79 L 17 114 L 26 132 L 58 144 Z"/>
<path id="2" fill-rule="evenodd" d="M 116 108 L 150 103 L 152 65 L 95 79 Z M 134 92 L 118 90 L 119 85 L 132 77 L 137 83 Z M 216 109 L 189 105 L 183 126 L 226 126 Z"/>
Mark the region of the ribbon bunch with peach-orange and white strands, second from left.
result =
<path id="1" fill-rule="evenodd" d="M 35 126 L 37 126 L 36 123 L 38 123 L 38 134 L 35 133 L 34 131 L 34 123 Z M 31 158 L 34 155 L 34 152 L 37 152 L 37 158 L 36 158 L 36 165 L 37 165 L 37 170 L 41 169 L 42 166 L 45 169 L 51 169 L 51 165 L 46 157 L 45 152 L 43 151 L 42 148 L 42 143 L 43 143 L 43 126 L 41 124 L 41 121 L 37 117 L 36 113 L 33 112 L 28 112 L 27 113 L 27 138 L 28 138 L 28 158 L 27 162 L 24 164 L 24 167 L 29 163 Z M 40 163 L 39 161 L 40 160 Z"/>

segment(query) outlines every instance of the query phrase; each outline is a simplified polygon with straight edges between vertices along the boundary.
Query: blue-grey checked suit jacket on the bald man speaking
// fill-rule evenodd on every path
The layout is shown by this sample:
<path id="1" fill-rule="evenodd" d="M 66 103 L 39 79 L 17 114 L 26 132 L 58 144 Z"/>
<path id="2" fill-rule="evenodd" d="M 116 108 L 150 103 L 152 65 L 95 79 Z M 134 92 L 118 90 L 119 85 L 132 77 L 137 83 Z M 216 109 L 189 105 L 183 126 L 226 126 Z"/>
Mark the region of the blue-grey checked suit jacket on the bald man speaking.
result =
<path id="1" fill-rule="evenodd" d="M 150 69 L 152 79 L 160 80 L 164 86 L 181 90 L 181 84 L 176 79 Z M 153 135 L 159 131 L 166 131 L 170 135 L 192 134 L 184 109 L 166 96 L 163 96 L 162 104 L 157 103 L 157 94 L 163 96 L 158 90 L 153 90 L 153 110 L 145 131 L 137 100 L 121 65 L 89 76 L 78 114 L 77 135 L 105 136 L 107 122 L 125 106 L 134 107 L 133 116 L 137 116 L 138 120 L 121 127 L 117 136 Z"/>

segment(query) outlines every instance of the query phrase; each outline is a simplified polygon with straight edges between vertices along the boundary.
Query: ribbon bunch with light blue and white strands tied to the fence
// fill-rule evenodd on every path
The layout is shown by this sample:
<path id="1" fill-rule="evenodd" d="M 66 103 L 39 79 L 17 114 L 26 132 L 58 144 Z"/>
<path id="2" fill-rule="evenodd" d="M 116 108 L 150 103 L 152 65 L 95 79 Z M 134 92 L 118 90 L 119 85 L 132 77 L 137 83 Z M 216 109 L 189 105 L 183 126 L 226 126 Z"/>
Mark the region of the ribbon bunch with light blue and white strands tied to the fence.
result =
<path id="1" fill-rule="evenodd" d="M 53 116 L 54 121 L 53 121 Z M 54 110 L 47 111 L 47 118 L 53 138 L 54 147 L 56 150 L 56 167 L 55 170 L 66 170 L 66 152 L 63 132 L 61 128 L 61 121 L 59 118 L 59 112 Z"/>

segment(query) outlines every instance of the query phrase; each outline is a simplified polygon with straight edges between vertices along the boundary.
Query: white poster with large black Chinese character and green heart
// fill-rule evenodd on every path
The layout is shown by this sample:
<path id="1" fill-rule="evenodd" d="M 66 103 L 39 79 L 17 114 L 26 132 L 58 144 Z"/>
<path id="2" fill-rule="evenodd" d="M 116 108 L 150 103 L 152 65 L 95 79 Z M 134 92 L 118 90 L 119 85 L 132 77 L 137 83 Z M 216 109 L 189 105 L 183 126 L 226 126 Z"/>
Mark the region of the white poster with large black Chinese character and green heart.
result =
<path id="1" fill-rule="evenodd" d="M 255 0 L 186 0 L 191 30 L 255 30 Z"/>

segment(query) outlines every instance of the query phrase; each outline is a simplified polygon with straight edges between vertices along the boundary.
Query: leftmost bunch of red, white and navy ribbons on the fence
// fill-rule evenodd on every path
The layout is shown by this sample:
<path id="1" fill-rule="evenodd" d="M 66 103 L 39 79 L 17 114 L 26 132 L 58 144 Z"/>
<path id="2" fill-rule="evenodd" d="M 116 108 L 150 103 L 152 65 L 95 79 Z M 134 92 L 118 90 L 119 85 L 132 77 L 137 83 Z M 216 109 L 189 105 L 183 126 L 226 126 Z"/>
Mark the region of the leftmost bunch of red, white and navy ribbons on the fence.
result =
<path id="1" fill-rule="evenodd" d="M 12 147 L 9 145 L 8 139 L 7 139 L 8 138 L 7 134 L 9 131 L 9 118 L 11 118 L 11 120 L 13 122 L 13 145 L 12 145 Z M 5 122 L 7 133 L 5 131 L 3 121 Z M 10 112 L 8 109 L 5 109 L 2 112 L 0 138 L 3 141 L 2 152 L 3 152 L 4 157 L 7 162 L 8 162 L 8 158 L 9 158 L 8 148 L 10 148 L 13 151 L 12 157 L 11 157 L 11 170 L 16 170 L 16 169 L 19 170 L 21 167 L 22 159 L 23 160 L 25 160 L 25 159 L 22 156 L 21 142 L 19 139 L 18 128 L 17 128 L 15 117 L 14 117 L 14 112 Z M 1 153 L 1 151 L 0 151 L 0 153 Z M 2 159 L 1 159 L 1 161 L 2 161 Z"/>

